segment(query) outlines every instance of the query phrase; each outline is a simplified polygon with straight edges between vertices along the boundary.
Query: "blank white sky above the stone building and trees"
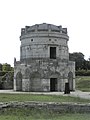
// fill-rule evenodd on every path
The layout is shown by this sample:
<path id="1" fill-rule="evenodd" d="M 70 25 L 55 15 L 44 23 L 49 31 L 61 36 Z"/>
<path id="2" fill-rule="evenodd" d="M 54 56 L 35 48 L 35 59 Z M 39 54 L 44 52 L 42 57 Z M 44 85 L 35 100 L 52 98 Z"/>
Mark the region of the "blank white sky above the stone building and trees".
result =
<path id="1" fill-rule="evenodd" d="M 14 66 L 21 28 L 41 23 L 66 27 L 69 52 L 90 57 L 90 0 L 0 0 L 0 63 Z"/>

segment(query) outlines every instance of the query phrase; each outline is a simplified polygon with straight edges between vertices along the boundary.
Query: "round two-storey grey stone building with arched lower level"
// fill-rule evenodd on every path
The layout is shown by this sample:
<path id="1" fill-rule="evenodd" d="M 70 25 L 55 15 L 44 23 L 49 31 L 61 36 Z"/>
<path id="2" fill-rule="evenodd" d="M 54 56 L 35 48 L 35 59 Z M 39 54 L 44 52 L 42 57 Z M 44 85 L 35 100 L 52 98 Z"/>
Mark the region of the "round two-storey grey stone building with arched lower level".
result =
<path id="1" fill-rule="evenodd" d="M 67 28 L 36 24 L 21 29 L 20 61 L 14 60 L 14 90 L 75 90 L 75 63 L 69 61 Z"/>

